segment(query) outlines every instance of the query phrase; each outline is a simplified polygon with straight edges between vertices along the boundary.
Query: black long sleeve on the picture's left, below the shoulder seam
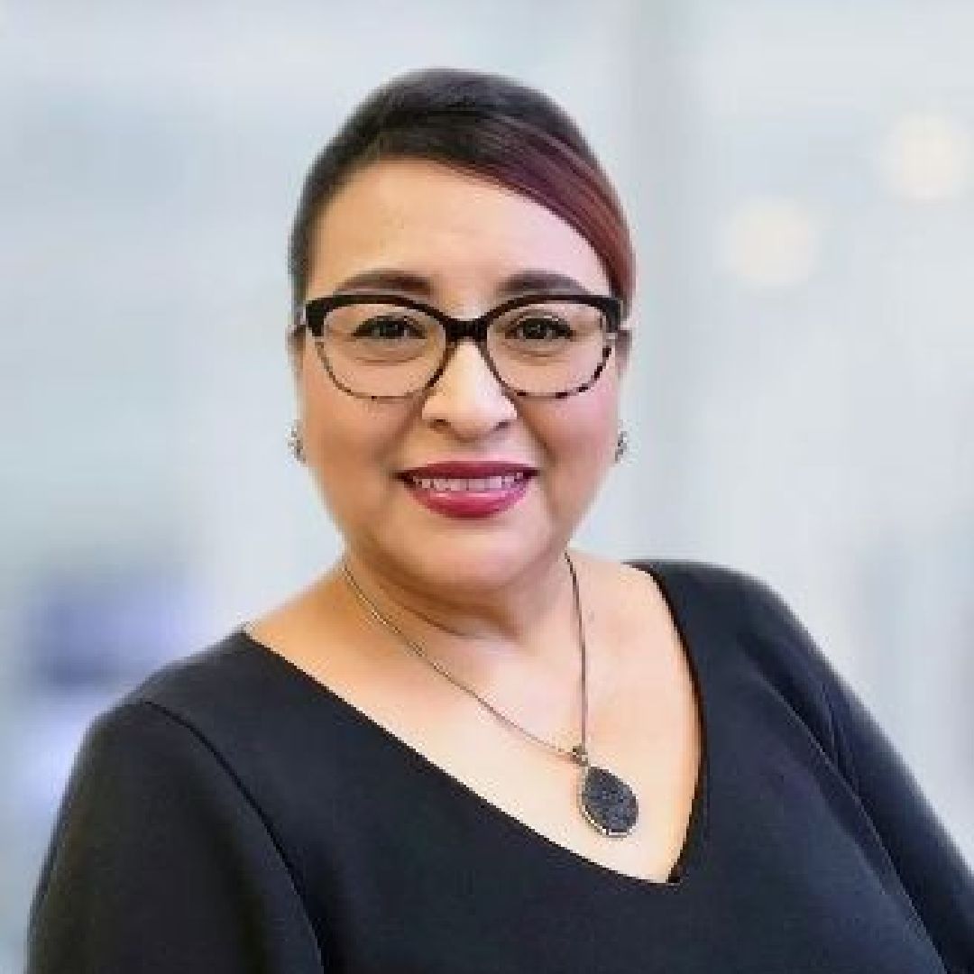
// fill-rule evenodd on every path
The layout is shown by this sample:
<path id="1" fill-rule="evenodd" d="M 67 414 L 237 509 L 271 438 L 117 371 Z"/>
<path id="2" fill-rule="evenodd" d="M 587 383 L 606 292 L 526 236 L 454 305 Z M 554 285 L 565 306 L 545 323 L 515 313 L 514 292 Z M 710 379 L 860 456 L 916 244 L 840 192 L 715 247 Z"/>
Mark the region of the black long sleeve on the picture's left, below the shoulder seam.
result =
<path id="1" fill-rule="evenodd" d="M 124 702 L 75 760 L 31 907 L 27 974 L 320 974 L 290 873 L 232 772 Z"/>

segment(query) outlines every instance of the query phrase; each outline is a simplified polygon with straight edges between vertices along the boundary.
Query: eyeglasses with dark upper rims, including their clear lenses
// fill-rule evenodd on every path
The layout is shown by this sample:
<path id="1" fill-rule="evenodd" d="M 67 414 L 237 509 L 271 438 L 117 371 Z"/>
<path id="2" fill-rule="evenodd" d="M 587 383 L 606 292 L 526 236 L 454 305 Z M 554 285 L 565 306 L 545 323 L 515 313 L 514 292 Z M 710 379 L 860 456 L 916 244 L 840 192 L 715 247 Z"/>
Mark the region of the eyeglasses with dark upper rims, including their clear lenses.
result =
<path id="1" fill-rule="evenodd" d="M 481 315 L 451 318 L 411 298 L 329 294 L 305 304 L 306 326 L 332 381 L 350 395 L 400 399 L 431 389 L 469 338 L 498 382 L 530 398 L 565 398 L 602 374 L 622 306 L 604 294 L 527 294 Z"/>

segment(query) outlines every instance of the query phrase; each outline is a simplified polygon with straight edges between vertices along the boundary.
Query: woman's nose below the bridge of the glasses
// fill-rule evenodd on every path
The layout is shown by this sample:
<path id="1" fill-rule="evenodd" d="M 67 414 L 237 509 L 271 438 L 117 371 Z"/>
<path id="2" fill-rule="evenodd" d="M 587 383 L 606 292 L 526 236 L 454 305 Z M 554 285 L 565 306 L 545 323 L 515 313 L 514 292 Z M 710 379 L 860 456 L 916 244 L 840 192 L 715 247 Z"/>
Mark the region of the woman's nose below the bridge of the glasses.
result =
<path id="1" fill-rule="evenodd" d="M 480 349 L 469 339 L 458 342 L 423 403 L 426 422 L 449 427 L 461 439 L 476 439 L 516 416 L 514 403 Z"/>

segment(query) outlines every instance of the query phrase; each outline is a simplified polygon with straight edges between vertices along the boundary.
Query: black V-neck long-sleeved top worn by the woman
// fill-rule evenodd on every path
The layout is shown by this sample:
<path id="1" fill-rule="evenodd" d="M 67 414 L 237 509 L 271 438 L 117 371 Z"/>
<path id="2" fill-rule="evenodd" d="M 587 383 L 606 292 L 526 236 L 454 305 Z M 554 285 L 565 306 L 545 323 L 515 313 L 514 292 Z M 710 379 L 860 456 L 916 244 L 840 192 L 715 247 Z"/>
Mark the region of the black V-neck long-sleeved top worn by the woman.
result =
<path id="1" fill-rule="evenodd" d="M 634 564 L 702 709 L 682 875 L 549 841 L 239 629 L 87 732 L 29 974 L 974 971 L 974 877 L 801 623 L 729 569 Z"/>

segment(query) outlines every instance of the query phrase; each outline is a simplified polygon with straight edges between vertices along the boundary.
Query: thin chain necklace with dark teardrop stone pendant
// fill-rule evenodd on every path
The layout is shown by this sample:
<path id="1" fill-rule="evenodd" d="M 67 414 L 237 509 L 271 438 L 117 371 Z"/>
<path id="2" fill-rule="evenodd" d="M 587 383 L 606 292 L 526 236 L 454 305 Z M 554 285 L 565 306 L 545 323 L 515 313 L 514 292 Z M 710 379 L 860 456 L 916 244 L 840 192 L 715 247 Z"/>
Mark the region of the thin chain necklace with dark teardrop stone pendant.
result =
<path id="1" fill-rule="evenodd" d="M 375 603 L 365 594 L 361 586 L 352 574 L 352 569 L 346 559 L 342 558 L 342 573 L 348 581 L 352 590 L 356 593 L 358 600 L 365 607 L 369 615 L 378 622 L 390 629 L 402 641 L 402 643 L 416 656 L 429 664 L 437 673 L 445 677 L 455 687 L 468 693 L 474 699 L 485 706 L 495 717 L 503 721 L 508 727 L 519 731 L 530 737 L 538 744 L 563 757 L 568 758 L 581 768 L 581 775 L 578 786 L 578 802 L 582 815 L 588 823 L 601 832 L 604 836 L 620 838 L 629 835 L 639 819 L 639 802 L 633 790 L 617 774 L 606 768 L 598 768 L 591 764 L 588 757 L 588 691 L 586 683 L 587 660 L 585 658 L 585 630 L 581 618 L 581 601 L 579 598 L 579 580 L 575 574 L 575 566 L 568 552 L 565 552 L 565 560 L 568 562 L 568 570 L 572 576 L 572 594 L 575 601 L 575 617 L 578 621 L 579 644 L 581 646 L 581 744 L 576 744 L 571 748 L 559 747 L 550 741 L 538 737 L 531 731 L 515 724 L 506 714 L 501 713 L 492 703 L 485 700 L 479 693 L 470 690 L 469 687 L 454 679 L 445 669 L 443 669 L 434 659 L 423 651 L 412 639 L 410 639 L 393 621 L 386 618 L 376 607 Z"/>

